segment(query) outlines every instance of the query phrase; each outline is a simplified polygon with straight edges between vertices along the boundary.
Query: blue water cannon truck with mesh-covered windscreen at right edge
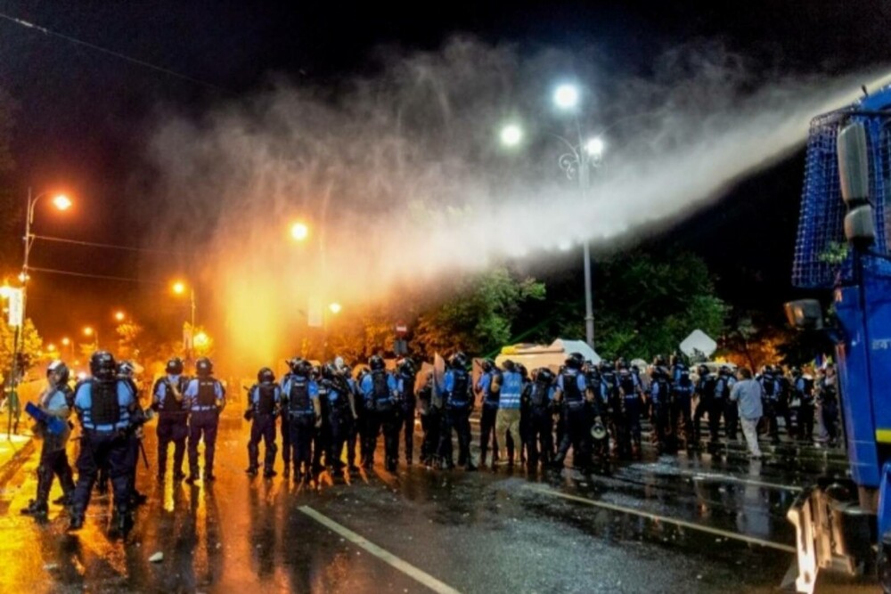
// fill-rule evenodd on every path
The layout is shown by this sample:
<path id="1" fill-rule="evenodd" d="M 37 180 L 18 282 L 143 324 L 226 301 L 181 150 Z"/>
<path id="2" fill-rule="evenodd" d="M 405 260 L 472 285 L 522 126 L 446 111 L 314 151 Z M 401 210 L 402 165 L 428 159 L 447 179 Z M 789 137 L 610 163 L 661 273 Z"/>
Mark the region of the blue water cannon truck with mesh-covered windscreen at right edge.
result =
<path id="1" fill-rule="evenodd" d="M 876 571 L 891 593 L 891 85 L 813 118 L 802 193 L 792 281 L 832 289 L 836 320 L 824 328 L 813 299 L 786 314 L 836 345 L 850 479 L 818 481 L 789 509 L 796 588 Z"/>

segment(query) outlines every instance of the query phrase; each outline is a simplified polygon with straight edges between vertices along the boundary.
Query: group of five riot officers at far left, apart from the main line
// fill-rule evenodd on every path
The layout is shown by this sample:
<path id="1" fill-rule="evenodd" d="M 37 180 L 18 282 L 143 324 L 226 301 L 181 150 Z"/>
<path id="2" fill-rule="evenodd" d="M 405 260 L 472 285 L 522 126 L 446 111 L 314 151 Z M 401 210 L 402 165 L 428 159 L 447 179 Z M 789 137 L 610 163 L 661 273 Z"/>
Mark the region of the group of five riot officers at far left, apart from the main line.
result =
<path id="1" fill-rule="evenodd" d="M 153 387 L 151 407 L 143 410 L 130 362 L 115 362 L 106 351 L 90 357 L 90 377 L 69 386 L 70 371 L 64 362 L 54 361 L 46 370 L 47 386 L 37 402 L 35 435 L 43 438 L 37 468 L 37 497 L 21 512 L 45 518 L 47 500 L 58 476 L 62 496 L 53 503 L 69 509 L 69 531 L 84 525 L 94 486 L 110 480 L 114 501 L 112 528 L 126 534 L 133 525 L 132 512 L 144 497 L 135 489 L 136 464 L 142 449 L 142 426 L 157 412 L 158 460 L 160 478 L 165 474 L 169 443 L 175 444 L 174 476 L 185 478 L 182 470 L 185 439 L 189 438 L 190 475 L 187 482 L 199 478 L 198 446 L 205 443 L 204 480 L 214 480 L 214 445 L 219 413 L 225 407 L 225 388 L 212 377 L 213 363 L 206 357 L 196 363 L 196 378 L 184 378 L 183 362 L 172 359 L 167 376 Z M 80 424 L 79 451 L 74 482 L 66 445 L 73 424 L 71 412 Z M 143 460 L 145 454 L 143 451 Z M 147 464 L 147 462 L 146 462 Z"/>

